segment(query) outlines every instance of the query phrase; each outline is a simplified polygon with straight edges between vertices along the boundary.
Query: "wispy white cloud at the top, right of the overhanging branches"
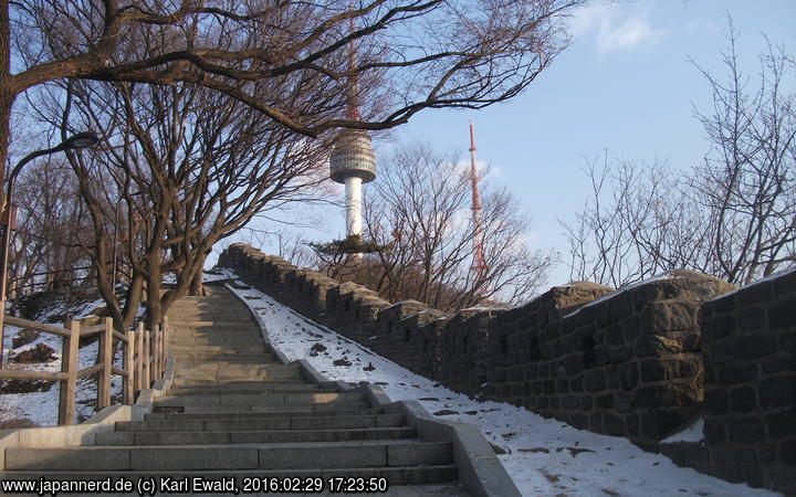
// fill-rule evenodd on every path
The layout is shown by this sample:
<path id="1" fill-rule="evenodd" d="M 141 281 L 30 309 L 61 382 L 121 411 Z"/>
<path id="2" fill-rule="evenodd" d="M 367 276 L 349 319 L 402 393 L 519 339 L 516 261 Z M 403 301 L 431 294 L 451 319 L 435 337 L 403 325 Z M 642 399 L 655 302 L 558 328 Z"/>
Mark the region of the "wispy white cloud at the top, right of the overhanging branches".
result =
<path id="1" fill-rule="evenodd" d="M 596 2 L 578 9 L 570 20 L 575 38 L 595 36 L 600 56 L 609 52 L 635 50 L 657 44 L 666 34 L 652 27 L 649 6 L 643 9 L 624 3 Z"/>

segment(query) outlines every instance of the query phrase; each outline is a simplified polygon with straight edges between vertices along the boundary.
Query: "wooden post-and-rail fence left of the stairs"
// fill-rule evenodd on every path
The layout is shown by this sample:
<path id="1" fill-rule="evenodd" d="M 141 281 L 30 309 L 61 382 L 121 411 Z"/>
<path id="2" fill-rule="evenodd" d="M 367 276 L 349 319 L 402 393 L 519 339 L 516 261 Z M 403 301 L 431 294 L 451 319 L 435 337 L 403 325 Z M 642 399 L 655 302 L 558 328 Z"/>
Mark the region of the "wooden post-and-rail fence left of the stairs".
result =
<path id="1" fill-rule="evenodd" d="M 20 369 L 0 369 L 0 380 L 45 380 L 60 381 L 59 424 L 74 424 L 75 390 L 77 380 L 95 376 L 97 382 L 96 411 L 111 405 L 111 377 L 119 376 L 122 383 L 122 401 L 133 405 L 135 393 L 148 389 L 163 377 L 168 353 L 170 328 L 168 318 L 154 330 L 145 330 L 139 322 L 135 330 L 124 334 L 115 331 L 113 319 L 105 318 L 103 324 L 81 327 L 80 321 L 67 321 L 65 328 L 43 325 L 13 316 L 6 316 L 6 324 L 40 332 L 57 335 L 63 338 L 61 351 L 61 372 L 31 371 Z M 77 350 L 81 337 L 100 335 L 98 358 L 94 366 L 77 369 Z M 114 341 L 115 340 L 115 341 Z M 121 345 L 123 368 L 114 367 L 115 345 Z"/>

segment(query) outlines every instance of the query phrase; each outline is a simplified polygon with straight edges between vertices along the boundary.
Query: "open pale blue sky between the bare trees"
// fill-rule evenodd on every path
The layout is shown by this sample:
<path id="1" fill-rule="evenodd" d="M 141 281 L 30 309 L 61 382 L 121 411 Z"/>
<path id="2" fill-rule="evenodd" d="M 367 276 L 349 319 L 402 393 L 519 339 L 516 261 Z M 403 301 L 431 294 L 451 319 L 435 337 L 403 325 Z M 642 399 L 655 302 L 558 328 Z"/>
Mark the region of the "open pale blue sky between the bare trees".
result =
<path id="1" fill-rule="evenodd" d="M 421 113 L 391 141 L 427 140 L 467 157 L 473 119 L 491 181 L 509 187 L 533 216 L 532 246 L 565 255 L 558 220 L 573 220 L 586 200 L 586 157 L 607 150 L 609 159 L 661 159 L 675 168 L 701 160 L 708 144 L 693 109 L 710 110 L 710 89 L 691 60 L 725 74 L 727 14 L 748 75 L 757 74 L 763 33 L 796 53 L 796 0 L 597 0 L 576 12 L 572 45 L 521 96 L 479 112 Z M 307 237 L 344 233 L 342 210 L 324 218 Z M 549 284 L 566 283 L 568 274 L 561 264 Z"/>

